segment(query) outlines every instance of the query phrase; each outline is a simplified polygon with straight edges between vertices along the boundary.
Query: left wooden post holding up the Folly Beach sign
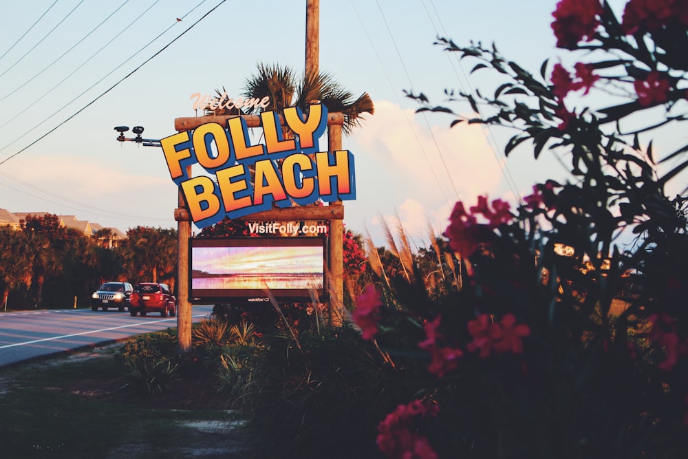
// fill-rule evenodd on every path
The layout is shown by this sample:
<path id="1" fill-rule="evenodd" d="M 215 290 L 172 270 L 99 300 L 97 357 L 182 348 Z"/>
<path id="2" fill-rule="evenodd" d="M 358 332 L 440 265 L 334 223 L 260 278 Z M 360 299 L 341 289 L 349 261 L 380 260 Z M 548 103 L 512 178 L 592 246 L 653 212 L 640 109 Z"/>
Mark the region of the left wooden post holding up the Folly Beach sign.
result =
<path id="1" fill-rule="evenodd" d="M 191 166 L 186 166 L 186 175 L 191 177 Z M 189 238 L 191 237 L 191 216 L 180 187 L 178 207 L 174 212 L 177 220 L 177 334 L 180 354 L 191 351 L 191 301 L 189 301 Z"/>

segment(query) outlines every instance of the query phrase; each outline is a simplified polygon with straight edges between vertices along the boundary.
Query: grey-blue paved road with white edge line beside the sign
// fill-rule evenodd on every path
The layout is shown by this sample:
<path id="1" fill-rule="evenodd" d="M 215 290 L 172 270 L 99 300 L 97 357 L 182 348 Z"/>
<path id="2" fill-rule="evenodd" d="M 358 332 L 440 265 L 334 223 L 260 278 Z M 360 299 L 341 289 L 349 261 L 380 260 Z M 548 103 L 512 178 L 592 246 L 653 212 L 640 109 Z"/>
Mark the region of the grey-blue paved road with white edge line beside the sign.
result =
<path id="1" fill-rule="evenodd" d="M 211 305 L 195 305 L 193 322 L 207 319 Z M 129 312 L 88 309 L 0 313 L 0 367 L 35 357 L 74 350 L 176 328 L 177 318 L 158 314 L 131 317 Z"/>

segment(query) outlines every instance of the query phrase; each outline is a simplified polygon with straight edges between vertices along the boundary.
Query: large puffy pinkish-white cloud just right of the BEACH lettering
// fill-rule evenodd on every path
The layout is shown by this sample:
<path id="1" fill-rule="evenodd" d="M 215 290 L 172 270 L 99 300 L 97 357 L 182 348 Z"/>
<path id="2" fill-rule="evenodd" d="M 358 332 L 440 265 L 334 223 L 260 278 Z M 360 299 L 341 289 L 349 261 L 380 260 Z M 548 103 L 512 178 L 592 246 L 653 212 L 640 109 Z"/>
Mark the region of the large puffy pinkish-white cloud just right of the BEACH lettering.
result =
<path id="1" fill-rule="evenodd" d="M 478 125 L 449 127 L 449 116 L 426 118 L 394 103 L 375 102 L 375 114 L 345 139 L 356 157 L 357 200 L 347 203 L 356 225 L 363 220 L 376 244 L 384 244 L 380 215 L 390 228 L 397 215 L 409 237 L 429 242 L 447 225 L 457 200 L 497 196 L 503 184 L 495 153 Z M 498 155 L 501 154 L 497 152 Z M 358 220 L 361 219 L 361 220 Z"/>

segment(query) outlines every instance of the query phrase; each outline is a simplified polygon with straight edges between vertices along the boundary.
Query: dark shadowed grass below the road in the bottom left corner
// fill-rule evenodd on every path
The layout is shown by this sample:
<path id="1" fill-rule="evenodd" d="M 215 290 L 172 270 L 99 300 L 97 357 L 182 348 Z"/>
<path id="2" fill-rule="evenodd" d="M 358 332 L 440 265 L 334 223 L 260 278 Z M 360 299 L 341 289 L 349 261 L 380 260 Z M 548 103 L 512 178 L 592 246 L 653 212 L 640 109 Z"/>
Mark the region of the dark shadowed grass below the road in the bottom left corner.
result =
<path id="1" fill-rule="evenodd" d="M 194 457 L 231 457 L 229 412 L 128 401 L 118 390 L 114 351 L 93 354 L 104 358 L 62 356 L 0 368 L 3 458 L 182 458 L 190 449 Z M 97 396 L 99 388 L 112 395 Z M 218 446 L 224 447 L 221 456 Z"/>

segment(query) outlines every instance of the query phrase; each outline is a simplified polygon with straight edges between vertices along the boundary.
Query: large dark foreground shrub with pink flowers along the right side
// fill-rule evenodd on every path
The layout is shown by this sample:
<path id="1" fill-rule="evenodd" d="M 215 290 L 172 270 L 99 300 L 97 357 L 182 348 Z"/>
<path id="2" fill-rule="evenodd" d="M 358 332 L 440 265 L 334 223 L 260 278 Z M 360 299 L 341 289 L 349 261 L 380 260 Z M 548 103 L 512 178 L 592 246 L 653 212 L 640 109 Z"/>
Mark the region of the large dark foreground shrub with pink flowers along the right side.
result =
<path id="1" fill-rule="evenodd" d="M 473 118 L 409 92 L 452 126 L 513 129 L 507 155 L 566 153 L 571 174 L 513 209 L 457 202 L 443 236 L 463 281 L 446 295 L 430 299 L 414 266 L 358 298 L 363 339 L 395 371 L 430 376 L 380 418 L 389 458 L 687 457 L 687 198 L 666 189 L 688 145 L 656 160 L 649 136 L 688 119 L 688 0 L 630 0 L 621 21 L 606 1 L 561 0 L 552 17 L 557 46 L 588 61 L 537 77 L 495 47 L 439 39 L 506 81 L 453 98 L 480 105 Z M 600 105 L 599 92 L 629 100 Z"/>

